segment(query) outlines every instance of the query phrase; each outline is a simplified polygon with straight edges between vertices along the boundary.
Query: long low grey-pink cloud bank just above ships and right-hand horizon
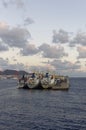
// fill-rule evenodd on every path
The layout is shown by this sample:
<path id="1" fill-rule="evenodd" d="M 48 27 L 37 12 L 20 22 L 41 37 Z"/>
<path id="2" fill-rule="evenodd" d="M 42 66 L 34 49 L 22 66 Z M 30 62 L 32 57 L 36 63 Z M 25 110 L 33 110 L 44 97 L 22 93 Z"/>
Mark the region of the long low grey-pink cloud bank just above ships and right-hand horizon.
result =
<path id="1" fill-rule="evenodd" d="M 53 60 L 48 62 L 44 62 L 45 66 L 31 66 L 29 70 L 35 72 L 46 72 L 47 70 L 49 73 L 54 72 L 56 74 L 67 75 L 67 76 L 86 76 L 86 72 L 81 71 L 81 65 L 79 62 L 69 62 L 69 61 L 61 61 L 61 60 Z"/>

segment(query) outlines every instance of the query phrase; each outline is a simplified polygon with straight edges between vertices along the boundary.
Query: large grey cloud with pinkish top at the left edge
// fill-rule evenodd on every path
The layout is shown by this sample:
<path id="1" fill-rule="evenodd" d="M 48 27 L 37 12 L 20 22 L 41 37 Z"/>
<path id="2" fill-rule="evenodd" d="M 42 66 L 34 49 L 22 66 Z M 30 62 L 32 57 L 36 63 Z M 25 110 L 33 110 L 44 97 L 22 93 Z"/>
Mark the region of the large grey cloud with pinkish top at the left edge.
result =
<path id="1" fill-rule="evenodd" d="M 10 28 L 6 23 L 0 22 L 0 39 L 8 46 L 22 48 L 30 37 L 31 35 L 27 29 L 21 27 Z"/>

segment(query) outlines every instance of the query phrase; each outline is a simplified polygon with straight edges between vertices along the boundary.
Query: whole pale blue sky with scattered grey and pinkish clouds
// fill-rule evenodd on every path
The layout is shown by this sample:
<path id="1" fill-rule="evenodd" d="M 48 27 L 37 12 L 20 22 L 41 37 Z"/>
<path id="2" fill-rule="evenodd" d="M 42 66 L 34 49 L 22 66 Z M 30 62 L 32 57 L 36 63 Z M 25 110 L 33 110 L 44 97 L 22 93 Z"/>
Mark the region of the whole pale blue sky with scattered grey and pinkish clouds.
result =
<path id="1" fill-rule="evenodd" d="M 86 0 L 0 0 L 0 70 L 86 76 Z"/>

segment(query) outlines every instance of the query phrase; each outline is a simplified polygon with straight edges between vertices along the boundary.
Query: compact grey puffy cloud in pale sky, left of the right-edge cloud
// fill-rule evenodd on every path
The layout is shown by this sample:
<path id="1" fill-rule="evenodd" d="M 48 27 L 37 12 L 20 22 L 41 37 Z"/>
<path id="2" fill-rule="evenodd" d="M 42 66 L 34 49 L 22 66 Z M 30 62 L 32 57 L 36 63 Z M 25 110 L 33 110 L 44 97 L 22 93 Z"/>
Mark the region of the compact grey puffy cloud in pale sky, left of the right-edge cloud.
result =
<path id="1" fill-rule="evenodd" d="M 60 29 L 58 32 L 56 30 L 53 31 L 53 43 L 67 43 L 69 41 L 68 32 Z"/>

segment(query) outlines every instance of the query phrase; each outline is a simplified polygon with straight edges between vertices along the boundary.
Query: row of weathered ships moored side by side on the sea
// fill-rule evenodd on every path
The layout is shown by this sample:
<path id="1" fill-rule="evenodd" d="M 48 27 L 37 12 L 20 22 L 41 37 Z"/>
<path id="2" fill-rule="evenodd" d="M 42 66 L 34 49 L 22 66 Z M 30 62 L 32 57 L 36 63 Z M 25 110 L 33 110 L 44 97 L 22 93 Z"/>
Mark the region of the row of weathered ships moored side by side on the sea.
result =
<path id="1" fill-rule="evenodd" d="M 31 77 L 19 79 L 19 87 L 23 89 L 52 89 L 52 90 L 68 90 L 69 78 L 67 76 L 49 75 L 49 73 L 38 74 L 32 73 Z"/>

